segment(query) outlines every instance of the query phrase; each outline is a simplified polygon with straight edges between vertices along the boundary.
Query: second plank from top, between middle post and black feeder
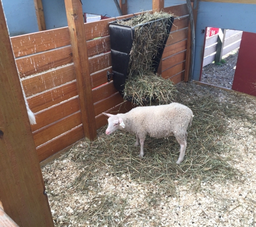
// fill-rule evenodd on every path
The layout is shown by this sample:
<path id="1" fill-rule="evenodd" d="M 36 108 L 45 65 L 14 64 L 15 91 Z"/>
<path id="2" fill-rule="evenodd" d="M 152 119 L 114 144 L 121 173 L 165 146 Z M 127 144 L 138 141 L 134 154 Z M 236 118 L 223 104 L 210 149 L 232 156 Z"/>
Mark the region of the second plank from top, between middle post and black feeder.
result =
<path id="1" fill-rule="evenodd" d="M 87 41 L 88 56 L 110 51 L 110 36 Z"/>

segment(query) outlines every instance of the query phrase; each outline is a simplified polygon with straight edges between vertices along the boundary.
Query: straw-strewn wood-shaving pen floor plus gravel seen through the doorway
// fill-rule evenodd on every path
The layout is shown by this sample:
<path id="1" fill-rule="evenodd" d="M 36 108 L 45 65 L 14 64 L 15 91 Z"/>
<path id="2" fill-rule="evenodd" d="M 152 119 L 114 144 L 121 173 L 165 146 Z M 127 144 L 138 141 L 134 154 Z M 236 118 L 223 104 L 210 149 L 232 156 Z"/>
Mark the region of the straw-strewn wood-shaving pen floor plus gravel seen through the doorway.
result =
<path id="1" fill-rule="evenodd" d="M 229 87 L 229 59 L 205 67 L 202 81 Z M 147 138 L 140 159 L 133 135 L 105 126 L 42 167 L 55 226 L 256 226 L 255 98 L 177 89 L 195 115 L 184 162 L 173 138 Z"/>

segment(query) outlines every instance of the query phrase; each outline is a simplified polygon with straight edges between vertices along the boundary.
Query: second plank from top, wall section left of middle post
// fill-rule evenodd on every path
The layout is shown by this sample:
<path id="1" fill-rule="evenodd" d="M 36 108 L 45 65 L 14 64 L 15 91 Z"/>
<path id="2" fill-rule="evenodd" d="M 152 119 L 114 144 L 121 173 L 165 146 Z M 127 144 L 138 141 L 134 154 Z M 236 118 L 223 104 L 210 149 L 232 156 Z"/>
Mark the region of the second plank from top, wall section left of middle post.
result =
<path id="1" fill-rule="evenodd" d="M 20 78 L 41 73 L 45 70 L 63 66 L 71 62 L 73 62 L 71 46 L 25 56 L 16 60 Z"/>

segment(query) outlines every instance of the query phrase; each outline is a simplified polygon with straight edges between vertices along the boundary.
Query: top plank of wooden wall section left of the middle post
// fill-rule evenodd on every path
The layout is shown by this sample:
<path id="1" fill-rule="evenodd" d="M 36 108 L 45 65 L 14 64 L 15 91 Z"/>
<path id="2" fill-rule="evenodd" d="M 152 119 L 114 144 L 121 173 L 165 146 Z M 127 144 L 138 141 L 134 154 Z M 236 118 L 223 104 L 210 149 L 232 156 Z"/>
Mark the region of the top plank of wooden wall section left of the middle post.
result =
<path id="1" fill-rule="evenodd" d="M 70 45 L 67 27 L 11 37 L 15 58 Z"/>

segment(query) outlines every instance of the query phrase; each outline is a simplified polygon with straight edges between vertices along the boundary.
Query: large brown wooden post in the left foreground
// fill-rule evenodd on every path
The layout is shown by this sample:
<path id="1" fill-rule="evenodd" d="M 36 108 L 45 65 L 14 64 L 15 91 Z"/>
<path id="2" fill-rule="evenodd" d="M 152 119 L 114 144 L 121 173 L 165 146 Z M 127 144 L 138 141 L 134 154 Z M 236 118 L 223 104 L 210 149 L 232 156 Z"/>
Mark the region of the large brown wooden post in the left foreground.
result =
<path id="1" fill-rule="evenodd" d="M 0 1 L 0 201 L 20 227 L 53 226 Z"/>

